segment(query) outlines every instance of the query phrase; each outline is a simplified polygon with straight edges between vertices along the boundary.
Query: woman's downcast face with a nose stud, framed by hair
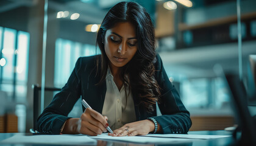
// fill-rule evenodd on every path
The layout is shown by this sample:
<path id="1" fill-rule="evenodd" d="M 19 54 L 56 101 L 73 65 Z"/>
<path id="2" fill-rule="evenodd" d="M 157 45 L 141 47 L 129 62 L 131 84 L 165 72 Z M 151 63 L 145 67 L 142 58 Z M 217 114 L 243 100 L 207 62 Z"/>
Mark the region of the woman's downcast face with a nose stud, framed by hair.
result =
<path id="1" fill-rule="evenodd" d="M 105 35 L 105 53 L 112 67 L 126 65 L 137 52 L 137 36 L 131 23 L 117 23 Z"/>

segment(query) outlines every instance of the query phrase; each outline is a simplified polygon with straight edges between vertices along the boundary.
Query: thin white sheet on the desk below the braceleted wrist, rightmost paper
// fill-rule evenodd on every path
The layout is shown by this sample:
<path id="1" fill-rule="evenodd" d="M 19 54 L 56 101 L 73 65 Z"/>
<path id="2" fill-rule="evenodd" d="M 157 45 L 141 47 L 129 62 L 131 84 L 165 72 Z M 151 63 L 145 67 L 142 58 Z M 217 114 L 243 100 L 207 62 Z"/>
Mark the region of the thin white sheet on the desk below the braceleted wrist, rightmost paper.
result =
<path id="1" fill-rule="evenodd" d="M 143 136 L 176 137 L 176 138 L 187 138 L 187 139 L 216 139 L 216 138 L 230 137 L 230 136 L 224 136 L 224 135 L 199 135 L 199 134 L 148 134 Z"/>

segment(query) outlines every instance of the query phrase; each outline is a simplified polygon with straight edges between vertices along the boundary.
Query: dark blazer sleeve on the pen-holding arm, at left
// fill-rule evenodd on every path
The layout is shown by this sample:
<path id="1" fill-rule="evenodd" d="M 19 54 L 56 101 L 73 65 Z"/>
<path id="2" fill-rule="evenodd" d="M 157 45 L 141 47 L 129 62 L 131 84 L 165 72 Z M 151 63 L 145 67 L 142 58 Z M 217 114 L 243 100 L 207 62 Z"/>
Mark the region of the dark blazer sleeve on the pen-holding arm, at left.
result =
<path id="1" fill-rule="evenodd" d="M 37 131 L 45 134 L 60 134 L 60 129 L 65 121 L 71 118 L 68 117 L 68 114 L 81 94 L 81 79 L 79 76 L 79 71 L 82 66 L 81 62 L 82 59 L 79 58 L 66 85 L 54 96 L 52 102 L 38 117 L 36 123 Z"/>

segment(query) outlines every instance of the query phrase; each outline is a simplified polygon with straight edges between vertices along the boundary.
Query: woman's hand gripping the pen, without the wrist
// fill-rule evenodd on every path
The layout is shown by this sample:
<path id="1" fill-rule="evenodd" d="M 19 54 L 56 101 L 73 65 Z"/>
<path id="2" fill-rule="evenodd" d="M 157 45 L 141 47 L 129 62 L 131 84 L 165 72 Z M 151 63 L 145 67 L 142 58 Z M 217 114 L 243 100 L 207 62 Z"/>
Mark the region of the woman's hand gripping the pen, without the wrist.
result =
<path id="1" fill-rule="evenodd" d="M 88 134 L 90 136 L 97 136 L 98 134 L 102 134 L 102 132 L 107 132 L 107 127 L 107 117 L 102 116 L 91 108 L 85 109 L 85 112 L 77 121 L 78 133 Z"/>

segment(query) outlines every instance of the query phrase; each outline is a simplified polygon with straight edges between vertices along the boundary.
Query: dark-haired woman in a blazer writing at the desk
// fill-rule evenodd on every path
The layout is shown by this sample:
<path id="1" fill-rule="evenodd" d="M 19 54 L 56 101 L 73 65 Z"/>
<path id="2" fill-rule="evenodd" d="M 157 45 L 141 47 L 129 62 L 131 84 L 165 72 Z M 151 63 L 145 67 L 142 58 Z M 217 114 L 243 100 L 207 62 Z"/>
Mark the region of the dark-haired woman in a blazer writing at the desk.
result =
<path id="1" fill-rule="evenodd" d="M 141 5 L 120 2 L 109 10 L 96 44 L 101 55 L 77 60 L 62 91 L 38 117 L 38 131 L 95 136 L 110 126 L 112 136 L 187 133 L 190 114 L 155 52 L 154 27 Z M 67 117 L 80 96 L 92 109 Z M 156 103 L 163 116 L 157 116 Z"/>

